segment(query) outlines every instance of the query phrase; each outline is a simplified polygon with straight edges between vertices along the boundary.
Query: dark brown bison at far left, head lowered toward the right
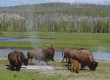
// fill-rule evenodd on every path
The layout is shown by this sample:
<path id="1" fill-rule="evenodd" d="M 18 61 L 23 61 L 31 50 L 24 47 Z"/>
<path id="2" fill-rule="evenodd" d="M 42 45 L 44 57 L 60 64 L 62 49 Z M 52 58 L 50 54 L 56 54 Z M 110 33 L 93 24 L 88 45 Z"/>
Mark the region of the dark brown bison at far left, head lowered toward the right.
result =
<path id="1" fill-rule="evenodd" d="M 12 51 L 8 54 L 8 60 L 10 63 L 11 70 L 20 71 L 22 63 L 28 65 L 28 59 L 25 58 L 24 54 L 20 51 Z"/>

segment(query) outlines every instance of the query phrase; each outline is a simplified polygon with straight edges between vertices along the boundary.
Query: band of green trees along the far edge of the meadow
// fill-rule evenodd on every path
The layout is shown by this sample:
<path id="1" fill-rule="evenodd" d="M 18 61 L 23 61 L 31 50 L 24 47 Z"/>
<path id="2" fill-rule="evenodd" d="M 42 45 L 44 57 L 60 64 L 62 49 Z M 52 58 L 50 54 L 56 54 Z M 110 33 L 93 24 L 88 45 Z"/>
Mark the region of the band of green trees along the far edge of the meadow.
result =
<path id="1" fill-rule="evenodd" d="M 53 21 L 47 19 L 42 22 L 36 18 L 28 18 L 26 21 L 9 22 L 2 21 L 0 23 L 1 32 L 85 32 L 85 33 L 109 33 L 110 20 L 102 21 Z"/>

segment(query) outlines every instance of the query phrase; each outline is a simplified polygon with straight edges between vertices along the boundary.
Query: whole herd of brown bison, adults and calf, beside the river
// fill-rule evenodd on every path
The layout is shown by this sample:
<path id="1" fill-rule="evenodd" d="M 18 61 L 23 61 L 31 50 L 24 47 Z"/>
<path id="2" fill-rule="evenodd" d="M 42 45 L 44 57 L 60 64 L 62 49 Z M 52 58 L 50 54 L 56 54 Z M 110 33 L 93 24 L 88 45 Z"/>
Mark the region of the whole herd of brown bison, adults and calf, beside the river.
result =
<path id="1" fill-rule="evenodd" d="M 22 64 L 28 65 L 29 60 L 32 63 L 34 58 L 40 63 L 40 61 L 45 61 L 48 65 L 48 61 L 54 61 L 55 49 L 53 45 L 46 45 L 40 48 L 31 49 L 27 53 L 27 58 L 20 51 L 12 51 L 8 54 L 8 60 L 10 63 L 10 69 L 20 71 Z M 90 70 L 95 71 L 98 66 L 91 54 L 87 49 L 80 48 L 66 48 L 62 51 L 62 56 L 64 60 L 66 59 L 68 70 L 79 73 L 80 69 L 84 69 L 85 66 L 88 66 Z"/>

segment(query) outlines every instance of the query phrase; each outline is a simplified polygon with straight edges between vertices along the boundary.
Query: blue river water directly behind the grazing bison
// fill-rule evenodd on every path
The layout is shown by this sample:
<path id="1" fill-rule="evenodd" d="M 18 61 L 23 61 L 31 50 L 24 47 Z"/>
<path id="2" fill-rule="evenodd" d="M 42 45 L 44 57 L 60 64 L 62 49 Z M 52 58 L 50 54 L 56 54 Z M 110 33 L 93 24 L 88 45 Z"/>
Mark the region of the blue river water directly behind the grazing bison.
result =
<path id="1" fill-rule="evenodd" d="M 14 51 L 14 50 L 18 50 L 18 49 L 0 49 L 0 56 L 7 56 L 8 53 Z M 23 52 L 25 55 L 27 54 L 28 50 L 18 50 Z M 108 52 L 92 52 L 92 55 L 95 59 L 97 60 L 106 60 L 106 61 L 110 61 L 110 53 Z M 55 59 L 57 58 L 62 58 L 62 51 L 61 50 L 56 50 L 55 51 Z"/>

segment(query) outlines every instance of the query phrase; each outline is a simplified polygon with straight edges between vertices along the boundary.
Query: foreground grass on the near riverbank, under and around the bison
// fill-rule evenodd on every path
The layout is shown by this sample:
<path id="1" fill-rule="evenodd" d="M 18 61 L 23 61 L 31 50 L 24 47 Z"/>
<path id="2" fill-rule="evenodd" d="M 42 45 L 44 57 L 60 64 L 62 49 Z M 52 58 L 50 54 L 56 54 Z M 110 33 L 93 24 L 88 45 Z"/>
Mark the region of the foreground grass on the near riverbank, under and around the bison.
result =
<path id="1" fill-rule="evenodd" d="M 88 67 L 80 70 L 79 74 L 71 72 L 64 67 L 55 70 L 25 70 L 20 72 L 5 69 L 4 64 L 8 64 L 7 60 L 0 60 L 0 80 L 109 80 L 110 63 L 108 61 L 98 61 L 99 65 L 96 71 L 90 71 Z M 49 62 L 51 66 L 63 66 L 60 60 Z M 2 67 L 2 68 L 1 68 Z"/>

